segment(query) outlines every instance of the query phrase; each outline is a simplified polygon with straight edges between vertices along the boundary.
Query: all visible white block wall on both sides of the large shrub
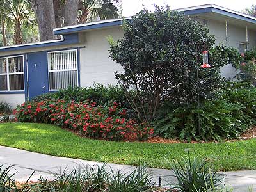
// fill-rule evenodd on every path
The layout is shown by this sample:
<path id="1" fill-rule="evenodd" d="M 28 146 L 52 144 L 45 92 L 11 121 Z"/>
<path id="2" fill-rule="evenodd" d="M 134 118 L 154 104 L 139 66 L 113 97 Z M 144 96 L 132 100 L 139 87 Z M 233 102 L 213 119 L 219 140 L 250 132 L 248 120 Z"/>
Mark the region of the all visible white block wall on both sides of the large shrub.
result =
<path id="1" fill-rule="evenodd" d="M 239 50 L 239 42 L 246 42 L 246 28 L 228 24 L 228 38 L 226 40 L 225 22 L 207 20 L 210 33 L 216 37 L 216 45 L 223 44 Z M 115 71 L 122 68 L 109 58 L 109 42 L 107 36 L 115 40 L 123 37 L 122 27 L 87 31 L 81 35 L 85 48 L 80 49 L 81 86 L 92 86 L 93 83 L 116 84 Z M 256 46 L 256 32 L 248 30 L 249 48 Z M 237 70 L 232 65 L 220 69 L 221 75 L 234 78 Z"/>

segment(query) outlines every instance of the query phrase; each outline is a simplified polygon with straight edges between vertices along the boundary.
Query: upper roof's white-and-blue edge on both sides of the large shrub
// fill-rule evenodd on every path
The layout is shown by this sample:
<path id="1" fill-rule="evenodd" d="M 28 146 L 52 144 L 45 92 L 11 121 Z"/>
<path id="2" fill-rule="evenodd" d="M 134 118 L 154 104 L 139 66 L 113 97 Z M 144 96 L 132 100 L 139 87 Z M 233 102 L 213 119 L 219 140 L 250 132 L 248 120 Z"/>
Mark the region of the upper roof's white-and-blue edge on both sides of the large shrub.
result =
<path id="1" fill-rule="evenodd" d="M 246 15 L 244 13 L 239 13 L 228 8 L 224 8 L 222 6 L 218 6 L 216 4 L 204 4 L 200 6 L 191 6 L 188 8 L 180 8 L 177 9 L 178 12 L 183 12 L 185 15 L 198 15 L 202 13 L 218 13 L 220 15 L 224 15 L 226 17 L 234 18 L 243 20 L 246 22 L 250 22 L 256 24 L 256 18 L 250 15 Z M 123 20 L 129 20 L 132 17 L 124 17 L 122 19 L 111 19 L 111 20 L 100 20 L 97 22 L 90 22 L 85 24 L 79 24 L 74 26 L 67 26 L 63 28 L 56 28 L 54 29 L 54 34 L 56 35 L 63 35 L 68 33 L 75 33 L 79 31 L 86 31 L 88 29 L 99 29 L 104 27 L 111 27 L 111 26 L 120 26 L 122 25 Z"/>

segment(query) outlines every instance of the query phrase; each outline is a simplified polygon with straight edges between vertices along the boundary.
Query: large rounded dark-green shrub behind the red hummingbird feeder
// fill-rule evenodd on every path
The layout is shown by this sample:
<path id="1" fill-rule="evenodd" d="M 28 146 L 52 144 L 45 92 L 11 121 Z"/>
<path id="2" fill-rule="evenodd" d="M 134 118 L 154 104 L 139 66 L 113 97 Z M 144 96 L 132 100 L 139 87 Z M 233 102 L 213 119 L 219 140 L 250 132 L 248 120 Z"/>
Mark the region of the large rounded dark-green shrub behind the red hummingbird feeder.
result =
<path id="1" fill-rule="evenodd" d="M 124 38 L 111 45 L 111 58 L 124 72 L 116 78 L 127 90 L 141 120 L 152 120 L 165 100 L 192 104 L 197 99 L 196 69 L 209 50 L 211 68 L 199 68 L 200 98 L 212 98 L 221 86 L 220 67 L 230 63 L 227 47 L 214 47 L 214 36 L 199 22 L 169 8 L 142 10 L 124 24 Z"/>

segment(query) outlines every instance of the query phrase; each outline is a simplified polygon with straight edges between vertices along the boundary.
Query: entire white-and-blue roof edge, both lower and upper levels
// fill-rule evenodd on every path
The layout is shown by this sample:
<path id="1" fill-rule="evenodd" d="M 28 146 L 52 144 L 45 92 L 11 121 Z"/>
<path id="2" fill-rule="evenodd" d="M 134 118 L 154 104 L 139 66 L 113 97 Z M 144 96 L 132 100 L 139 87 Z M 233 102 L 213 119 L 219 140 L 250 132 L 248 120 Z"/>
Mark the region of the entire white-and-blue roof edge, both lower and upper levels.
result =
<path id="1" fill-rule="evenodd" d="M 244 13 L 239 13 L 234 10 L 230 10 L 222 6 L 218 6 L 216 4 L 205 4 L 200 6 L 192 6 L 188 8 L 180 8 L 180 9 L 177 9 L 177 11 L 183 12 L 185 15 L 200 15 L 204 13 L 216 13 L 218 15 L 228 17 L 230 19 L 238 19 L 244 22 L 249 22 L 250 24 L 256 24 L 255 17 L 246 15 Z M 79 24 L 74 26 L 67 26 L 63 28 L 56 28 L 53 30 L 54 34 L 55 35 L 69 34 L 66 36 L 67 39 L 50 40 L 50 41 L 44 41 L 44 42 L 36 42 L 32 44 L 20 44 L 20 45 L 0 47 L 0 52 L 15 51 L 20 49 L 31 49 L 36 47 L 49 47 L 49 46 L 62 45 L 62 44 L 72 44 L 72 43 L 74 44 L 78 42 L 79 31 L 106 28 L 111 26 L 121 26 L 123 24 L 123 20 L 131 20 L 131 19 L 132 17 L 124 17 L 120 19 L 100 20 L 97 22 L 90 22 L 90 23 Z"/>

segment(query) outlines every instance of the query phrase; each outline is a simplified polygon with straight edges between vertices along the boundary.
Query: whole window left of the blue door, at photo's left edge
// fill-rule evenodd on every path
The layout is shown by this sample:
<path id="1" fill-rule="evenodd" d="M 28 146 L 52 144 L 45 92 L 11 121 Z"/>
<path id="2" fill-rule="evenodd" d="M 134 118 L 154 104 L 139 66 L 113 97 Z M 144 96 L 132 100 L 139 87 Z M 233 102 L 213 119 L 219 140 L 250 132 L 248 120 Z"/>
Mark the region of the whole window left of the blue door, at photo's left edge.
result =
<path id="1" fill-rule="evenodd" d="M 23 56 L 0 58 L 0 91 L 24 91 Z"/>

